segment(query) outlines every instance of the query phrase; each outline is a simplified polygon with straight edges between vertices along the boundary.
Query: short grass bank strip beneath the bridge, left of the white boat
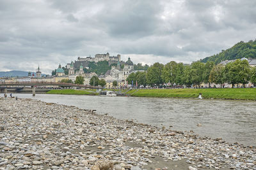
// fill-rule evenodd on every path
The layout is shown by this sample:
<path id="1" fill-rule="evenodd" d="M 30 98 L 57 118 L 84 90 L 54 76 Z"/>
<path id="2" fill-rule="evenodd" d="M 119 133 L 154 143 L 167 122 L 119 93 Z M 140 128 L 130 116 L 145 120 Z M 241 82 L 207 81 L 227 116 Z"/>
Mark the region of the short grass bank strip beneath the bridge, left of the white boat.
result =
<path id="1" fill-rule="evenodd" d="M 74 94 L 74 95 L 98 95 L 96 90 L 74 90 L 74 89 L 61 89 L 50 90 L 47 94 Z"/>

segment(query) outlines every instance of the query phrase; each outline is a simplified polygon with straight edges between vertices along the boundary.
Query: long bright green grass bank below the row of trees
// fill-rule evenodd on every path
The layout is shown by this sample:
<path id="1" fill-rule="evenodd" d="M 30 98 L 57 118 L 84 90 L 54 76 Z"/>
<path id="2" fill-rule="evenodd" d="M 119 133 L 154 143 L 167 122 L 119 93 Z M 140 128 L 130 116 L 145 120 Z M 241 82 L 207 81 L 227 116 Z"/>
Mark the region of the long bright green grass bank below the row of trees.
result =
<path id="1" fill-rule="evenodd" d="M 256 100 L 256 89 L 140 89 L 127 94 L 136 97 L 196 98 L 202 93 L 205 99 Z"/>

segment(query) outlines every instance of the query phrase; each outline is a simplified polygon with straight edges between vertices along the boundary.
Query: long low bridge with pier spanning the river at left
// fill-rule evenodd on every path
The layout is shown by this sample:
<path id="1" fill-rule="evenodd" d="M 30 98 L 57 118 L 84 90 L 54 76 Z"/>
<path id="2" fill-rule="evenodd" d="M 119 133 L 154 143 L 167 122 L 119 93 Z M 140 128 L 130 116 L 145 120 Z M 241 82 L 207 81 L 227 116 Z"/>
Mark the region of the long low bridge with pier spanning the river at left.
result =
<path id="1" fill-rule="evenodd" d="M 51 87 L 78 87 L 86 89 L 100 89 L 100 87 L 95 87 L 91 85 L 79 85 L 74 83 L 63 83 L 63 82 L 45 82 L 45 81 L 24 81 L 24 82 L 4 82 L 0 83 L 1 92 L 7 92 L 8 87 L 32 87 L 33 96 L 35 96 L 35 87 L 40 86 L 51 86 Z"/>

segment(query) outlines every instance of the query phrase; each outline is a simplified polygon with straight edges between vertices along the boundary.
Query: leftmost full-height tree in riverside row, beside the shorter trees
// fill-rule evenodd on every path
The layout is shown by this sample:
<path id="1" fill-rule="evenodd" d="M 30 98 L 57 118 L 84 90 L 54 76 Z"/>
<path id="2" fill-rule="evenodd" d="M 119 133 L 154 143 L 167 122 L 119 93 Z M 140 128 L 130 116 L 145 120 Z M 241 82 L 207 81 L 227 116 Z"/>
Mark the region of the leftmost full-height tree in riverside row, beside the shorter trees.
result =
<path id="1" fill-rule="evenodd" d="M 147 83 L 148 85 L 160 85 L 163 83 L 162 72 L 163 64 L 156 62 L 153 66 L 148 67 L 147 70 Z"/>

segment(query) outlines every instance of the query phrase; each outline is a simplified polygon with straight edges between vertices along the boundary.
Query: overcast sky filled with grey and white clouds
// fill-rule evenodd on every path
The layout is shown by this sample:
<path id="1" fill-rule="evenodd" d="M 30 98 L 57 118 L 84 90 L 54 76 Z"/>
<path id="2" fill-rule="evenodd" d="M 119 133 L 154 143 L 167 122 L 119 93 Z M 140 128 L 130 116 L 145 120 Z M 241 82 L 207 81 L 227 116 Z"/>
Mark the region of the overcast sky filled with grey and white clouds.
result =
<path id="1" fill-rule="evenodd" d="M 189 63 L 255 38 L 254 0 L 0 0 L 0 71 L 107 52 Z"/>

